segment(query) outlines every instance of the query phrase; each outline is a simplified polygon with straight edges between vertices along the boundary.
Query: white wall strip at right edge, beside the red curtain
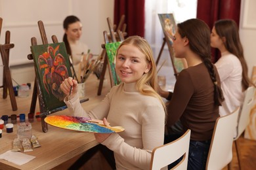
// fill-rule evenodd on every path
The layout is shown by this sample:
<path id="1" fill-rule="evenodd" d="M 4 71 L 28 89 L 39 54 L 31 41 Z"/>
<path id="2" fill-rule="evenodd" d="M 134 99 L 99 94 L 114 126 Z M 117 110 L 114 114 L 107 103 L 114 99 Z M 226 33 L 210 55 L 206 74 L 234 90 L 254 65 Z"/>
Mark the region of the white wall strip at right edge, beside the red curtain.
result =
<path id="1" fill-rule="evenodd" d="M 240 15 L 240 39 L 244 47 L 244 56 L 248 65 L 248 75 L 251 78 L 252 68 L 256 66 L 256 1 L 242 0 Z"/>

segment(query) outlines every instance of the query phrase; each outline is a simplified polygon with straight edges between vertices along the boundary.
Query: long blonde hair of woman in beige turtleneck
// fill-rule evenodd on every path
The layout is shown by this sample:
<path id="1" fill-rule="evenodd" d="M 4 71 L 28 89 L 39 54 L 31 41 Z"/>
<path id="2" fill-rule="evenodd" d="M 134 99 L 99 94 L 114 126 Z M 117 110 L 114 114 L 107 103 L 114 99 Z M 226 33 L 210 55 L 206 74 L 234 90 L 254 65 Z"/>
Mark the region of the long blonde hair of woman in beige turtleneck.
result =
<path id="1" fill-rule="evenodd" d="M 152 97 L 156 97 L 161 102 L 161 105 L 163 105 L 163 109 L 166 113 L 166 107 L 165 103 L 161 99 L 161 96 L 157 93 L 158 86 L 157 86 L 157 73 L 156 73 L 156 63 L 153 58 L 153 52 L 148 44 L 148 42 L 139 36 L 131 36 L 125 39 L 123 42 L 121 42 L 120 46 L 117 48 L 116 54 L 118 54 L 118 50 L 121 46 L 125 44 L 131 44 L 133 46 L 136 46 L 140 52 L 144 54 L 146 57 L 146 61 L 151 64 L 151 69 L 148 71 L 148 73 L 144 73 L 144 75 L 141 76 L 141 78 L 136 83 L 137 90 L 142 95 L 150 95 Z"/>

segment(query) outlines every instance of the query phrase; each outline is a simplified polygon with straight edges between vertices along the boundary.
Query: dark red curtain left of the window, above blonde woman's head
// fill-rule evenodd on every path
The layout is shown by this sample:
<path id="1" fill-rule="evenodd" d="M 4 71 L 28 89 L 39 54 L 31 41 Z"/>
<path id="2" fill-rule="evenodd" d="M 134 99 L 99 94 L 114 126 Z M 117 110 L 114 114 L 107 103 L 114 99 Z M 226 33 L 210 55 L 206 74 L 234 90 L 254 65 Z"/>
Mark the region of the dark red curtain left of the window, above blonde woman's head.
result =
<path id="1" fill-rule="evenodd" d="M 114 24 L 118 24 L 121 15 L 125 14 L 127 37 L 139 35 L 144 37 L 144 0 L 115 0 Z"/>

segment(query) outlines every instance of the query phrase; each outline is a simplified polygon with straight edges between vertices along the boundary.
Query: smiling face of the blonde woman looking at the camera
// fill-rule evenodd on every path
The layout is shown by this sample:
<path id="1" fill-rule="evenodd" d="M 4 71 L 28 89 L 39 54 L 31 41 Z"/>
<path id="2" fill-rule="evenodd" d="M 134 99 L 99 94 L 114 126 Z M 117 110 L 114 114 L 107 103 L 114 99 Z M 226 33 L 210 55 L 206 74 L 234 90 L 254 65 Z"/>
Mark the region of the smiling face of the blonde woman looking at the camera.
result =
<path id="1" fill-rule="evenodd" d="M 124 44 L 117 52 L 116 73 L 122 82 L 137 82 L 144 73 L 150 71 L 150 63 L 139 48 L 132 44 Z"/>

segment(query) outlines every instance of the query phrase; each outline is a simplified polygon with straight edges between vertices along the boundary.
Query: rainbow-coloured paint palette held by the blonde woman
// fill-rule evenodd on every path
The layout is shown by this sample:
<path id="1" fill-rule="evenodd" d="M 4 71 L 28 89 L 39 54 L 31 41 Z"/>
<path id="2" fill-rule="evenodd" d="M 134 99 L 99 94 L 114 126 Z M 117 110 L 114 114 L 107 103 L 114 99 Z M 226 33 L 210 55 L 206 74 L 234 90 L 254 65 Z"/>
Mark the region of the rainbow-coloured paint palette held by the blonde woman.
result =
<path id="1" fill-rule="evenodd" d="M 121 126 L 104 126 L 102 120 L 93 120 L 76 116 L 47 116 L 45 122 L 51 126 L 60 127 L 62 129 L 93 133 L 117 133 L 125 130 Z"/>

